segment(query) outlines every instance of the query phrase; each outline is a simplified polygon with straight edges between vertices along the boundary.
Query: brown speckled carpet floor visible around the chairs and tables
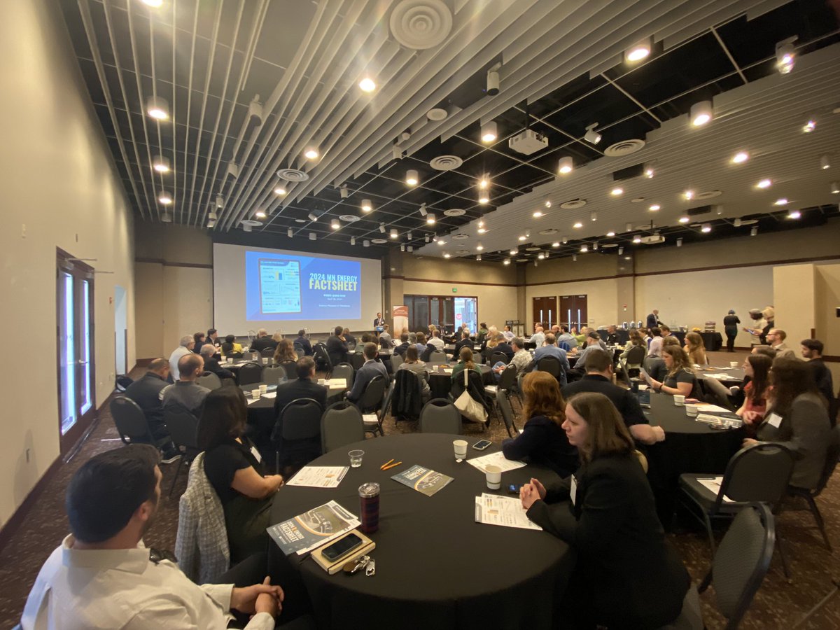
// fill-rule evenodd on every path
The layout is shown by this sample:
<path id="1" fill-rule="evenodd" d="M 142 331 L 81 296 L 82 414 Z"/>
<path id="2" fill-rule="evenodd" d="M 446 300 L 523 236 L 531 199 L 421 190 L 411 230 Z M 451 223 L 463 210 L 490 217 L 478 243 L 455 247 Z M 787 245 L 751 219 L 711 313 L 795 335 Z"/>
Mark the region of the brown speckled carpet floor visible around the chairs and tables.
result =
<path id="1" fill-rule="evenodd" d="M 726 365 L 728 360 L 741 360 L 744 353 L 711 353 L 712 365 Z M 717 360 L 717 363 L 716 363 Z M 139 375 L 142 372 L 138 372 Z M 519 407 L 514 407 L 516 412 Z M 391 418 L 386 420 L 386 433 L 412 433 L 417 423 L 399 423 L 395 427 Z M 517 418 L 517 426 L 522 426 Z M 494 442 L 507 438 L 504 426 L 496 419 L 489 431 L 480 425 L 469 425 L 464 433 L 486 437 Z M 13 627 L 18 622 L 38 570 L 67 533 L 64 514 L 64 491 L 71 475 L 93 454 L 120 445 L 107 406 L 100 414 L 97 426 L 87 438 L 76 457 L 62 465 L 50 480 L 44 493 L 24 519 L 24 524 L 13 534 L 10 542 L 0 549 L 0 627 Z M 164 497 L 160 504 L 157 520 L 150 529 L 146 543 L 162 549 L 173 549 L 178 522 L 178 497 L 186 487 L 186 467 L 176 480 L 175 491 L 167 498 L 177 464 L 162 467 Z M 278 495 L 281 496 L 281 495 Z M 840 470 L 829 482 L 827 490 L 817 499 L 825 517 L 828 535 L 835 548 L 840 549 Z M 801 506 L 800 506 L 801 507 Z M 812 606 L 821 601 L 834 588 L 832 580 L 840 581 L 840 563 L 837 551 L 830 554 L 825 549 L 809 512 L 786 510 L 777 519 L 778 531 L 785 545 L 790 561 L 792 582 L 788 584 L 782 574 L 779 555 L 775 554 L 769 574 L 764 580 L 753 605 L 743 620 L 743 628 L 794 628 L 801 622 Z M 706 534 L 694 527 L 690 521 L 681 520 L 680 528 L 669 534 L 679 550 L 682 559 L 695 582 L 706 574 L 710 563 L 709 544 Z M 644 559 L 639 558 L 643 563 Z M 717 612 L 714 589 L 701 596 L 706 626 L 722 628 L 725 619 Z M 832 596 L 819 612 L 811 617 L 802 628 L 840 627 L 840 594 Z"/>

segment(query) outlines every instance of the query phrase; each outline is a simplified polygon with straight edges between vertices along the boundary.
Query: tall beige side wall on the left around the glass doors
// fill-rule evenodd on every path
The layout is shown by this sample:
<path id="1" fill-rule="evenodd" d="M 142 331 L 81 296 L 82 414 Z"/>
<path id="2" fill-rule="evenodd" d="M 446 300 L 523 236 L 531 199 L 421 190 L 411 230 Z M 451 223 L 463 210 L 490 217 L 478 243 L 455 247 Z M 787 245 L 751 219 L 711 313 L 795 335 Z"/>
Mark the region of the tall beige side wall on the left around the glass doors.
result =
<path id="1" fill-rule="evenodd" d="M 113 388 L 114 286 L 126 291 L 134 365 L 133 218 L 76 66 L 58 3 L 0 8 L 0 328 L 40 357 L 34 378 L 7 370 L 0 445 L 0 525 L 59 456 L 55 249 L 96 259 L 97 407 Z"/>

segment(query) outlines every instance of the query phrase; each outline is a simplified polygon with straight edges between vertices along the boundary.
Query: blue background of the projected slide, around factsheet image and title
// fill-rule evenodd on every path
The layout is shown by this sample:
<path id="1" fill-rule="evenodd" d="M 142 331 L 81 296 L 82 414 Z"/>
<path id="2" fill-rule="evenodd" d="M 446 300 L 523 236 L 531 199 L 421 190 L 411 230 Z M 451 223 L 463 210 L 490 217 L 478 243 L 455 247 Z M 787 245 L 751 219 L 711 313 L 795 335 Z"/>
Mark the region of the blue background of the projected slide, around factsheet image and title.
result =
<path id="1" fill-rule="evenodd" d="M 301 265 L 301 312 L 264 313 L 260 305 L 259 260 L 297 260 Z M 355 276 L 356 291 L 328 291 L 309 288 L 309 276 L 324 274 Z M 245 317 L 252 321 L 285 321 L 303 319 L 359 319 L 361 312 L 361 265 L 355 260 L 333 260 L 265 251 L 245 252 Z M 328 296 L 332 296 L 328 299 Z M 217 296 L 218 299 L 219 296 Z M 338 298 L 338 299 L 337 299 Z"/>

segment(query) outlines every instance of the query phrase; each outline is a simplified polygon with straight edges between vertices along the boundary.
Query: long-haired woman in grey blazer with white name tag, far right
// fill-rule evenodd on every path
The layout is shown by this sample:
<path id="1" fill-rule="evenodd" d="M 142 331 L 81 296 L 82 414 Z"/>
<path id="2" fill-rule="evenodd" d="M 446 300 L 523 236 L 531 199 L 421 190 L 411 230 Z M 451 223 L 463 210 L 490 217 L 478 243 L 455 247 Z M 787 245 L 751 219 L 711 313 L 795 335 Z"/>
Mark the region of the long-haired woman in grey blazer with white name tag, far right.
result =
<path id="1" fill-rule="evenodd" d="M 794 456 L 790 485 L 812 490 L 826 463 L 830 432 L 827 402 L 816 388 L 811 368 L 798 359 L 774 360 L 764 421 L 756 429 L 756 439 L 744 439 L 743 446 L 784 445 Z"/>

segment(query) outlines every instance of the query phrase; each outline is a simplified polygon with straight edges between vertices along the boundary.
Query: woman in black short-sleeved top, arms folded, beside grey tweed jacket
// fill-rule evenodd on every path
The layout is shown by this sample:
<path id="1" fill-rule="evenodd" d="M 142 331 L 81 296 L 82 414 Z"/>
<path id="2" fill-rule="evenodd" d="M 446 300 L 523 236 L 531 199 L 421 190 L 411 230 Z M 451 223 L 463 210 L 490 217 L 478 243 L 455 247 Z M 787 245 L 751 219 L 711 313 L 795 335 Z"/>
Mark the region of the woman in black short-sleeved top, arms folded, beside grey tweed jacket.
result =
<path id="1" fill-rule="evenodd" d="M 265 475 L 260 452 L 244 437 L 248 408 L 239 387 L 207 394 L 198 423 L 204 472 L 224 509 L 232 564 L 265 551 L 271 499 L 281 475 Z"/>

